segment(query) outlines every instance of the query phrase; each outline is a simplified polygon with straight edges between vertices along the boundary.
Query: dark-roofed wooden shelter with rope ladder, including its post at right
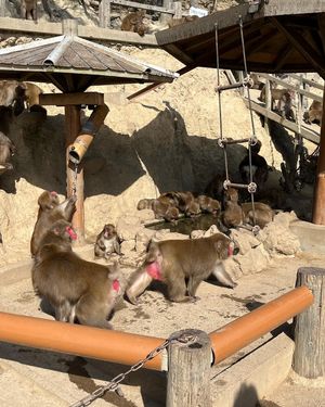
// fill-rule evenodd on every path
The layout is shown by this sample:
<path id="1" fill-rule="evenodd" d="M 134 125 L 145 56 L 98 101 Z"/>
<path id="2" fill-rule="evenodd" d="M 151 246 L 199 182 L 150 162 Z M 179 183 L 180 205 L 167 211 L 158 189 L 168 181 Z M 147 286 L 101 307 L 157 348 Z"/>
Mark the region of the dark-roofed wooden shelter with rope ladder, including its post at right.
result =
<path id="1" fill-rule="evenodd" d="M 157 43 L 180 60 L 185 73 L 216 67 L 261 73 L 317 72 L 325 79 L 325 1 L 256 0 L 156 34 Z M 323 100 L 323 117 L 325 117 Z M 325 225 L 325 120 L 321 128 L 313 222 Z"/>

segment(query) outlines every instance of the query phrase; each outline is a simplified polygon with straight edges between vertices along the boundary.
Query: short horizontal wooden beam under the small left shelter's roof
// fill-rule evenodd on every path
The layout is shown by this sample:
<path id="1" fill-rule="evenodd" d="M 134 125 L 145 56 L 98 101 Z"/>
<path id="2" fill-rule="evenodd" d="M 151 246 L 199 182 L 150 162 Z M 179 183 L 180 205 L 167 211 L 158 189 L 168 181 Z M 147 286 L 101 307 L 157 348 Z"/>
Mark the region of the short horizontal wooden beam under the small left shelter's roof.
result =
<path id="1" fill-rule="evenodd" d="M 104 93 L 99 93 L 99 92 L 42 93 L 39 96 L 39 103 L 43 106 L 104 104 Z"/>

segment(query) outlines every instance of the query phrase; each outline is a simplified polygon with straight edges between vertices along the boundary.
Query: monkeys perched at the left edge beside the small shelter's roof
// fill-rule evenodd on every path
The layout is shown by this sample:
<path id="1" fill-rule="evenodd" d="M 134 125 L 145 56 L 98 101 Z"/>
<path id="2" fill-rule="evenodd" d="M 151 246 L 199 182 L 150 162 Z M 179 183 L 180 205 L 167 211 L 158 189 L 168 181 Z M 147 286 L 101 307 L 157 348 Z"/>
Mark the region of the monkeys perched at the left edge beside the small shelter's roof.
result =
<path id="1" fill-rule="evenodd" d="M 16 148 L 8 137 L 10 124 L 26 107 L 29 111 L 46 110 L 39 106 L 39 94 L 42 90 L 35 84 L 17 80 L 0 80 L 0 174 L 13 169 L 11 157 Z M 37 106 L 37 107 L 36 107 Z"/>

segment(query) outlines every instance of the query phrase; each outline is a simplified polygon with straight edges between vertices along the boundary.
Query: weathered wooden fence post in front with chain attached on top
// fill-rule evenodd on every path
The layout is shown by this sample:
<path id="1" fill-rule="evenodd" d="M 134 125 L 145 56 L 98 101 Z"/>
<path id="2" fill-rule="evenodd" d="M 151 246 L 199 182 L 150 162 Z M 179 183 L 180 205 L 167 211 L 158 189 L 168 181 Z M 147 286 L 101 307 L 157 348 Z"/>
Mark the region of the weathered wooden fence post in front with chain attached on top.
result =
<path id="1" fill-rule="evenodd" d="M 172 342 L 168 348 L 166 407 L 212 407 L 210 397 L 211 342 L 206 332 L 186 329 L 173 333 L 194 341 Z"/>

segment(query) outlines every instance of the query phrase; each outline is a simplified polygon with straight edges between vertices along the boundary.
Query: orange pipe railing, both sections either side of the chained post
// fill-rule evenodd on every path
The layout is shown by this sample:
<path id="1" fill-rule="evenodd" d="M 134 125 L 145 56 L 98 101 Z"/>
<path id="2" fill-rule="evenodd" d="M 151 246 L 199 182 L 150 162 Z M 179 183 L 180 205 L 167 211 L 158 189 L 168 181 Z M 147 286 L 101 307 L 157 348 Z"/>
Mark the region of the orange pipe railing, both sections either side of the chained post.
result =
<path id="1" fill-rule="evenodd" d="M 209 334 L 217 364 L 313 303 L 307 287 L 295 289 Z M 134 365 L 165 342 L 162 338 L 0 313 L 0 341 L 122 365 Z M 161 354 L 144 367 L 161 370 Z"/>

